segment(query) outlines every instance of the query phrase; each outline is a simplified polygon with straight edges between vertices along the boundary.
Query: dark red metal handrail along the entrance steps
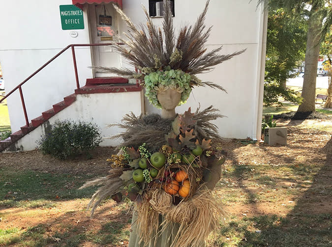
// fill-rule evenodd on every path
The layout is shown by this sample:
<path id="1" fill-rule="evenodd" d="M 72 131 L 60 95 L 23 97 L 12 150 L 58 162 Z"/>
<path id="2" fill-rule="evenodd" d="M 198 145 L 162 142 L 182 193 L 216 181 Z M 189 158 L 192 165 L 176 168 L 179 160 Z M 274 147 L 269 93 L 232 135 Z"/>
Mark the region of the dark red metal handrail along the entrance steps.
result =
<path id="1" fill-rule="evenodd" d="M 37 74 L 39 71 L 44 69 L 47 65 L 49 65 L 53 60 L 55 60 L 57 57 L 59 57 L 63 52 L 65 52 L 69 47 L 71 47 L 71 52 L 73 56 L 73 62 L 74 62 L 74 71 L 75 71 L 75 79 L 76 79 L 76 87 L 77 89 L 80 89 L 80 82 L 78 79 L 78 72 L 77 72 L 77 64 L 76 64 L 76 56 L 75 56 L 75 46 L 101 46 L 101 45 L 114 45 L 114 44 L 120 44 L 122 45 L 123 43 L 102 43 L 102 44 L 70 44 L 63 48 L 57 55 L 55 55 L 53 58 L 51 58 L 49 61 L 47 61 L 44 65 L 42 65 L 38 70 L 34 71 L 28 78 L 26 78 L 24 81 L 22 81 L 20 84 L 18 84 L 13 90 L 11 90 L 8 94 L 6 94 L 1 100 L 0 103 L 6 99 L 9 95 L 14 93 L 17 89 L 20 91 L 20 96 L 21 96 L 21 101 L 22 101 L 22 107 L 23 107 L 23 112 L 24 116 L 26 119 L 27 126 L 29 127 L 29 119 L 28 119 L 28 114 L 27 114 L 27 109 L 26 105 L 24 103 L 24 98 L 23 98 L 23 92 L 22 92 L 22 85 L 26 83 L 28 80 L 30 80 L 35 74 Z"/>

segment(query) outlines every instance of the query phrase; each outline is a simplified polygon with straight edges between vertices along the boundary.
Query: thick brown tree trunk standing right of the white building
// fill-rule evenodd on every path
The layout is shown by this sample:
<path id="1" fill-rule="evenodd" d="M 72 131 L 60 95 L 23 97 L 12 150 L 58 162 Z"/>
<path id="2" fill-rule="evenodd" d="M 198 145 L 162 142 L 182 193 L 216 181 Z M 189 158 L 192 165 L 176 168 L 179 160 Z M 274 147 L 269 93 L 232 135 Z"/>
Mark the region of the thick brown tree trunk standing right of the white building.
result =
<path id="1" fill-rule="evenodd" d="M 311 10 L 313 11 L 313 10 Z M 308 20 L 306 40 L 304 79 L 302 87 L 303 102 L 298 112 L 315 111 L 317 63 L 321 39 L 322 22 L 318 15 L 312 14 Z"/>

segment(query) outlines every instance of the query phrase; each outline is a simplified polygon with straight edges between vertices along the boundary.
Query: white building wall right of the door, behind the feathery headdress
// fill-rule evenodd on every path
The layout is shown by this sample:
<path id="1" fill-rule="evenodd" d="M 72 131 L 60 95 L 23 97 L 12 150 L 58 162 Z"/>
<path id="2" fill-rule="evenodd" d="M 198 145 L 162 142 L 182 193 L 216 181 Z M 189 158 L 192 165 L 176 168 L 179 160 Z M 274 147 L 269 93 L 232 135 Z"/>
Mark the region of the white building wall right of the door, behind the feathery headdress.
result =
<path id="1" fill-rule="evenodd" d="M 205 3 L 204 0 L 175 0 L 175 29 L 194 24 Z M 145 23 L 141 4 L 148 8 L 149 1 L 123 1 L 123 11 L 134 23 Z M 225 138 L 260 139 L 267 18 L 262 6 L 256 9 L 256 4 L 257 1 L 249 0 L 210 0 L 205 22 L 207 27 L 213 26 L 208 50 L 221 45 L 221 54 L 247 50 L 216 66 L 213 71 L 199 75 L 202 80 L 220 84 L 228 94 L 211 88 L 195 88 L 187 103 L 176 109 L 183 113 L 189 106 L 194 111 L 199 105 L 201 109 L 213 105 L 227 116 L 215 122 L 219 134 Z M 161 25 L 162 19 L 154 18 L 153 21 Z M 125 30 L 124 24 L 121 30 Z M 159 112 L 147 100 L 146 111 Z"/>

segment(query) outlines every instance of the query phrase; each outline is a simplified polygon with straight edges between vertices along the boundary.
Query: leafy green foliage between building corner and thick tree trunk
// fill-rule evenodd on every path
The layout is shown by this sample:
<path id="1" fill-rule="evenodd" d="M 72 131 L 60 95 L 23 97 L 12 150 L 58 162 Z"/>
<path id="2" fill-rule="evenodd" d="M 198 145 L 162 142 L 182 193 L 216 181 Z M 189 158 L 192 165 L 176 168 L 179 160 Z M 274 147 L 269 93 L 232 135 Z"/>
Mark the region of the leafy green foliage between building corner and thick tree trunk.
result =
<path id="1" fill-rule="evenodd" d="M 300 103 L 301 97 L 286 88 L 286 80 L 295 77 L 294 68 L 304 59 L 306 20 L 292 15 L 284 8 L 269 6 L 268 35 L 265 64 L 264 105 L 282 104 L 278 97 Z"/>

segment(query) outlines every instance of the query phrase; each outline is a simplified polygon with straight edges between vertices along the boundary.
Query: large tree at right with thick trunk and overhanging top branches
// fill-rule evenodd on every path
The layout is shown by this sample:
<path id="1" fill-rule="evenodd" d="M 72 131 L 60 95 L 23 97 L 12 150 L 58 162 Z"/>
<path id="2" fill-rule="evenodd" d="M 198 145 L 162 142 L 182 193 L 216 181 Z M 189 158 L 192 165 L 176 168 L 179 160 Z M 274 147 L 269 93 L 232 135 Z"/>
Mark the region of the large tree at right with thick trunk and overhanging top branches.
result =
<path id="1" fill-rule="evenodd" d="M 299 112 L 315 111 L 317 62 L 320 43 L 332 25 L 332 0 L 258 0 L 285 7 L 294 14 L 304 15 L 307 23 L 302 104 Z"/>

